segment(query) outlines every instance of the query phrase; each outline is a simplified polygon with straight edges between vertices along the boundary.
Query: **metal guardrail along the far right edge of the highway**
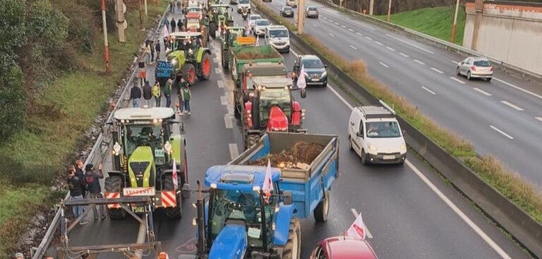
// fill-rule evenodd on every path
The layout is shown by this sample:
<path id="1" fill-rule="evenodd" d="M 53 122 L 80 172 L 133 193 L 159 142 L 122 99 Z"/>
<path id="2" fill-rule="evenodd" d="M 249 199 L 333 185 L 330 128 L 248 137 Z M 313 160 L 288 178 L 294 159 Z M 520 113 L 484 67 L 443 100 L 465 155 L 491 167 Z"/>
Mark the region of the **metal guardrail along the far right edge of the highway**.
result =
<path id="1" fill-rule="evenodd" d="M 454 44 L 452 42 L 447 42 L 445 40 L 440 40 L 440 39 L 435 38 L 433 36 L 426 35 L 426 34 L 421 33 L 421 32 L 416 32 L 415 30 L 411 30 L 409 28 L 404 28 L 404 27 L 402 27 L 400 25 L 397 25 L 397 24 L 394 24 L 394 23 L 388 23 L 385 20 L 380 20 L 380 19 L 375 18 L 373 16 L 368 16 L 368 15 L 365 15 L 363 13 L 352 11 L 352 10 L 350 10 L 348 8 L 337 6 L 332 1 L 328 1 L 328 0 L 314 0 L 314 1 L 317 1 L 320 4 L 324 4 L 325 6 L 329 6 L 329 7 L 332 7 L 332 8 L 337 8 L 337 9 L 339 9 L 341 11 L 346 12 L 346 13 L 352 13 L 352 14 L 354 14 L 356 16 L 361 16 L 363 18 L 371 20 L 371 22 L 373 22 L 373 23 L 380 23 L 381 25 L 387 25 L 388 27 L 395 28 L 397 30 L 401 30 L 403 32 L 406 32 L 409 35 L 413 35 L 413 36 L 416 36 L 416 37 L 421 37 L 424 40 L 428 40 L 430 42 L 433 42 L 434 44 L 440 44 L 440 45 L 444 46 L 446 49 L 451 49 L 452 51 L 457 52 L 457 54 L 466 54 L 466 55 L 469 55 L 469 56 L 483 56 L 486 59 L 489 59 L 493 64 L 496 64 L 496 65 L 500 66 L 503 71 L 512 71 L 512 73 L 517 73 L 520 76 L 522 76 L 522 78 L 530 77 L 530 78 L 535 78 L 535 79 L 538 79 L 538 80 L 542 79 L 541 74 L 534 73 L 532 71 L 527 70 L 526 68 L 520 68 L 519 66 L 508 64 L 508 63 L 506 63 L 506 62 L 504 62 L 504 61 L 502 61 L 500 59 L 497 59 L 497 58 L 495 58 L 493 56 L 488 56 L 486 54 L 483 54 L 482 52 L 476 52 L 476 51 L 474 51 L 472 49 L 468 49 L 466 47 L 459 46 L 458 44 Z"/>

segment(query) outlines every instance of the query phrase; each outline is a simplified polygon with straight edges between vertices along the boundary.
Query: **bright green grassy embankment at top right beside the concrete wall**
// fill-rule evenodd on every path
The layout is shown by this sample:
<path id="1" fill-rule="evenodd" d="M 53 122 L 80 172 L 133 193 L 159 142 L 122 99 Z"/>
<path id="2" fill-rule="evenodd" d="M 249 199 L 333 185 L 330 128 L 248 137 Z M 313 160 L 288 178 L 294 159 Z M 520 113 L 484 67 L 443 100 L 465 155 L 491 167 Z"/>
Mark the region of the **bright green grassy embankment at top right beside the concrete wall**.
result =
<path id="1" fill-rule="evenodd" d="M 413 11 L 392 14 L 390 22 L 404 28 L 416 30 L 450 42 L 452 40 L 452 25 L 454 24 L 454 6 L 440 6 L 435 8 L 421 8 Z M 459 6 L 457 14 L 457 26 L 455 32 L 455 44 L 463 44 L 463 32 L 465 30 L 465 6 Z M 387 16 L 375 16 L 386 20 Z"/>

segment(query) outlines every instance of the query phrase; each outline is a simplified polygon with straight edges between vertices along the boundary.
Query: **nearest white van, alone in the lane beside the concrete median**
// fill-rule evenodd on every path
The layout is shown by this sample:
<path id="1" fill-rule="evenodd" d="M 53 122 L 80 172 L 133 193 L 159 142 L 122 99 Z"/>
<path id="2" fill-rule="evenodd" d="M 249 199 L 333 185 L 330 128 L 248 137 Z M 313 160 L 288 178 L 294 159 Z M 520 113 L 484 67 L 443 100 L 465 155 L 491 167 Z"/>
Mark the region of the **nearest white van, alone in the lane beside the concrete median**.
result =
<path id="1" fill-rule="evenodd" d="M 361 157 L 361 164 L 403 164 L 406 143 L 395 111 L 383 107 L 356 107 L 350 114 L 348 142 Z"/>

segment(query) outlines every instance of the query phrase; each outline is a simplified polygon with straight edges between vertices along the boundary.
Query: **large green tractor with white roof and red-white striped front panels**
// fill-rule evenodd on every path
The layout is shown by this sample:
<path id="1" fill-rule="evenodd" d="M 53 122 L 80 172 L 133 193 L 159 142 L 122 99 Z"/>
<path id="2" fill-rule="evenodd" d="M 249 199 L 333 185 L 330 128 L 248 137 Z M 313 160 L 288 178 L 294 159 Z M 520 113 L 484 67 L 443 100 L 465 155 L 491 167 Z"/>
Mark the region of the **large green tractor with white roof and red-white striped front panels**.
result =
<path id="1" fill-rule="evenodd" d="M 173 109 L 119 109 L 110 125 L 113 171 L 105 179 L 105 198 L 150 196 L 153 210 L 164 209 L 168 217 L 180 219 L 181 188 L 188 182 L 188 165 L 184 126 L 175 120 Z M 125 209 L 119 204 L 107 205 L 111 219 L 123 219 L 126 210 L 146 212 L 145 206 Z"/>

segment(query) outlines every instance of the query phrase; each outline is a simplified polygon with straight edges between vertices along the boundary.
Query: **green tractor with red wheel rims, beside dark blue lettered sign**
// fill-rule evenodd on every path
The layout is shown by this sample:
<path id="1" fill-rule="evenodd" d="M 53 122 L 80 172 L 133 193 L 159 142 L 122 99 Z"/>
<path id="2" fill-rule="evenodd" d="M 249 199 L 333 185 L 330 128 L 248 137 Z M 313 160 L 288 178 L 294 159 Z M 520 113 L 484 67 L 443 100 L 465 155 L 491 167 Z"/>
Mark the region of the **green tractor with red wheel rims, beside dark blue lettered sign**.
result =
<path id="1" fill-rule="evenodd" d="M 201 32 L 174 32 L 174 51 L 167 55 L 175 71 L 175 75 L 182 75 L 190 84 L 195 84 L 196 77 L 208 80 L 211 76 L 211 51 L 203 47 Z"/>

